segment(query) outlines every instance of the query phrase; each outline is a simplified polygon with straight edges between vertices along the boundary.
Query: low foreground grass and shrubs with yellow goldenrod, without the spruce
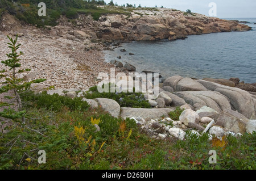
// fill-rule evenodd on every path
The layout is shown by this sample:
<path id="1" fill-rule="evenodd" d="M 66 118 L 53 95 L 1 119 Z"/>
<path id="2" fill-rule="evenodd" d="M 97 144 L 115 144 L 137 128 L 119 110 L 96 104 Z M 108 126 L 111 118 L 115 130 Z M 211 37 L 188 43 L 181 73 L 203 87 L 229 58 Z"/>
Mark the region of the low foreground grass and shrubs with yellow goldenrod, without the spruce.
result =
<path id="1" fill-rule="evenodd" d="M 196 137 L 189 132 L 183 141 L 156 140 L 146 136 L 134 120 L 112 117 L 100 107 L 82 110 L 71 104 L 75 103 L 63 102 L 54 111 L 36 101 L 30 103 L 26 121 L 31 129 L 12 129 L 12 125 L 9 133 L 0 133 L 0 169 L 256 169 L 255 132 L 225 137 L 224 147 L 208 140 L 207 134 Z M 92 124 L 95 119 L 99 132 Z M 19 132 L 26 134 L 13 144 Z M 27 141 L 25 145 L 22 140 Z M 42 149 L 46 164 L 37 161 Z M 216 150 L 216 164 L 209 163 L 209 150 Z"/>

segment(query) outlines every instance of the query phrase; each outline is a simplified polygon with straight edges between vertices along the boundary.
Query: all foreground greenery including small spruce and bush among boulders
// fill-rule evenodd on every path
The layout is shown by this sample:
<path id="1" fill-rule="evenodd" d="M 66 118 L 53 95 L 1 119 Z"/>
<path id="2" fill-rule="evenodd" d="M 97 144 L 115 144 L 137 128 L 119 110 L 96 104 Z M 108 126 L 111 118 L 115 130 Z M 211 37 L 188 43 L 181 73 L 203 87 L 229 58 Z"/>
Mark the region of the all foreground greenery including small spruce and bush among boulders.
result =
<path id="1" fill-rule="evenodd" d="M 2 169 L 191 169 L 191 170 L 255 170 L 256 132 L 243 136 L 224 136 L 222 140 L 208 134 L 197 137 L 187 131 L 184 140 L 167 137 L 157 140 L 144 134 L 134 120 L 112 117 L 100 107 L 90 108 L 81 98 L 65 98 L 56 94 L 34 94 L 32 82 L 16 78 L 22 70 L 18 53 L 20 44 L 10 39 L 12 52 L 2 61 L 9 70 L 1 71 L 5 78 L 1 94 L 13 91 L 18 105 L 15 110 L 8 102 L 1 102 L 0 170 Z M 87 98 L 110 94 L 92 87 Z M 143 106 L 142 94 L 113 93 L 113 98 L 126 98 L 130 104 Z M 2 95 L 1 95 L 2 96 Z M 126 97 L 125 97 L 126 96 Z M 170 116 L 180 115 L 179 107 Z M 3 117 L 8 120 L 4 120 Z M 5 127 L 3 127 L 5 125 Z M 97 129 L 100 128 L 100 129 Z M 46 151 L 46 163 L 39 163 L 39 150 Z M 217 163 L 210 164 L 208 154 L 216 150 Z"/>

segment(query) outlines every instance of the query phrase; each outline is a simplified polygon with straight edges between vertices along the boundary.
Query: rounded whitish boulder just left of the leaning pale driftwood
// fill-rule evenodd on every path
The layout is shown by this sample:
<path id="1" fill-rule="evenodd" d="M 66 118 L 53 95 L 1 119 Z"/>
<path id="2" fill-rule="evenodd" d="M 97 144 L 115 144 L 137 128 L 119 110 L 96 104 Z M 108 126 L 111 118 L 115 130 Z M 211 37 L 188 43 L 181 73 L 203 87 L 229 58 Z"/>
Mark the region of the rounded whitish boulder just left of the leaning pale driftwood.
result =
<path id="1" fill-rule="evenodd" d="M 184 123 L 186 126 L 188 125 L 189 122 L 191 123 L 199 123 L 200 121 L 200 116 L 196 111 L 193 110 L 184 110 L 180 117 L 179 120 L 181 123 Z"/>

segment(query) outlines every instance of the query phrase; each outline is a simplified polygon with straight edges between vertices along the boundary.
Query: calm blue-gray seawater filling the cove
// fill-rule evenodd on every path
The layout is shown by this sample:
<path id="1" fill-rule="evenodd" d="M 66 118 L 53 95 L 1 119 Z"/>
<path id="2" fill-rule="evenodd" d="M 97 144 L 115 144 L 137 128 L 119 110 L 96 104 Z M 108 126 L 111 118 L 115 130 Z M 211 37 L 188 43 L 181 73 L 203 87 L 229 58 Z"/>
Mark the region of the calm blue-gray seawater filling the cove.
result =
<path id="1" fill-rule="evenodd" d="M 133 41 L 114 51 L 105 51 L 105 60 L 122 58 L 137 72 L 150 70 L 163 77 L 181 75 L 193 78 L 238 77 L 246 83 L 256 82 L 256 18 L 247 21 L 253 30 L 191 35 L 185 40 Z M 121 52 L 120 49 L 126 49 Z M 134 55 L 129 55 L 129 53 Z"/>

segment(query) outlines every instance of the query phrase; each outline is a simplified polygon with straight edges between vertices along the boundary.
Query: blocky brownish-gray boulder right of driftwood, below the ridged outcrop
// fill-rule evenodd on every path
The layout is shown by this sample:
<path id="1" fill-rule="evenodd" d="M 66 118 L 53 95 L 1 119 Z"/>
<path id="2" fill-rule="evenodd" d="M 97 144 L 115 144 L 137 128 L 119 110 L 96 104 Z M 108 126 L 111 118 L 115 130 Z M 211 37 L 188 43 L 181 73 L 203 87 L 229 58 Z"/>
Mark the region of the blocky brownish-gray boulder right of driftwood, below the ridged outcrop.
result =
<path id="1" fill-rule="evenodd" d="M 228 131 L 234 133 L 245 133 L 246 124 L 249 122 L 247 117 L 243 116 L 241 113 L 233 110 L 224 110 L 218 116 L 216 125 L 228 129 Z"/>

